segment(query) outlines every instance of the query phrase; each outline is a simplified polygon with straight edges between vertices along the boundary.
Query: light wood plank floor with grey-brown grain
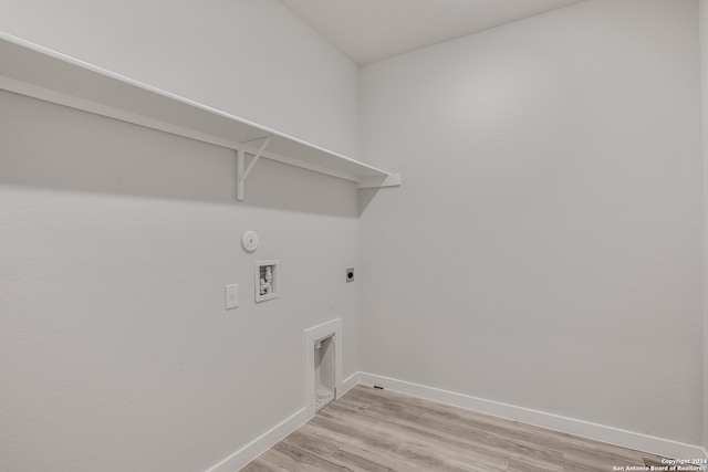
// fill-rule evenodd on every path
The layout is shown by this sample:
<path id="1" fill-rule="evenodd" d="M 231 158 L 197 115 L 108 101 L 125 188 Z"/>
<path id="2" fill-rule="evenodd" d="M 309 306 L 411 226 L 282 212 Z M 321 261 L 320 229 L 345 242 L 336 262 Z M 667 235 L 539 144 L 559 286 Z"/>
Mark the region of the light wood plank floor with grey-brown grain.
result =
<path id="1" fill-rule="evenodd" d="M 612 471 L 660 459 L 356 386 L 242 471 Z"/>

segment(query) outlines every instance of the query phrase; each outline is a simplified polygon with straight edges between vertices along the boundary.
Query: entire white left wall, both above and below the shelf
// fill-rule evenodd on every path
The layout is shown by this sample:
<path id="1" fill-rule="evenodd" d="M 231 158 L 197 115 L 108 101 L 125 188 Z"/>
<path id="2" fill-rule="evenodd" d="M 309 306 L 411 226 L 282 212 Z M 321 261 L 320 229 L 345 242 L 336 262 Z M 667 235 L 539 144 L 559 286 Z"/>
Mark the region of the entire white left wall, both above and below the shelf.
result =
<path id="1" fill-rule="evenodd" d="M 2 31 L 356 151 L 357 69 L 275 1 L 0 4 Z M 233 151 L 0 111 L 0 470 L 207 470 L 304 407 L 303 329 L 337 316 L 358 370 L 353 183 L 261 160 L 237 202 Z M 281 296 L 256 305 L 261 259 Z"/>

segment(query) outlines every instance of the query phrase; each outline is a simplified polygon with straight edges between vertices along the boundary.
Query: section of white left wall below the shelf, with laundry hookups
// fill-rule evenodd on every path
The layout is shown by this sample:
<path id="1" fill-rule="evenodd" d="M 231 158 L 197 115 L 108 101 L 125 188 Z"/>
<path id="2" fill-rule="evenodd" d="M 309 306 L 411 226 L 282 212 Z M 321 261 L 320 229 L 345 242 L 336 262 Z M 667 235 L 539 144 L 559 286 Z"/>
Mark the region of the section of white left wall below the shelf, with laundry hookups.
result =
<path id="1" fill-rule="evenodd" d="M 304 407 L 303 331 L 337 316 L 358 370 L 354 183 L 262 159 L 236 202 L 230 150 L 0 109 L 0 470 L 205 471 Z"/>

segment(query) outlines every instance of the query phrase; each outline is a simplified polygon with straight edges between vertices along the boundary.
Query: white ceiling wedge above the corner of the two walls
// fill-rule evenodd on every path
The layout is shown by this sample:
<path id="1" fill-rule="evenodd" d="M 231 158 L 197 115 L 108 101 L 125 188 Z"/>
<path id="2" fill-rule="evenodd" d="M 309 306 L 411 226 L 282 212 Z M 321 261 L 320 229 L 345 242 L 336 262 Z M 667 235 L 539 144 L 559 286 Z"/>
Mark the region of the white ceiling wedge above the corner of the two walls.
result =
<path id="1" fill-rule="evenodd" d="M 582 0 L 280 0 L 360 65 Z"/>

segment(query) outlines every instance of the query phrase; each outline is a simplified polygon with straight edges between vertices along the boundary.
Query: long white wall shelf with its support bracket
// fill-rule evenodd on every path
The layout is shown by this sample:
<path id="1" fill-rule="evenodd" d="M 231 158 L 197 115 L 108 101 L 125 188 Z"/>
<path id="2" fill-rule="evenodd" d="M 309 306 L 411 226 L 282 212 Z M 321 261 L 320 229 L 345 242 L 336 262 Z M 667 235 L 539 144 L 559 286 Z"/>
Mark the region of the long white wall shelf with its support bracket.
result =
<path id="1" fill-rule="evenodd" d="M 241 151 L 241 159 L 262 156 L 360 188 L 400 183 L 398 175 L 4 33 L 0 90 Z M 244 177 L 239 175 L 240 195 Z"/>

